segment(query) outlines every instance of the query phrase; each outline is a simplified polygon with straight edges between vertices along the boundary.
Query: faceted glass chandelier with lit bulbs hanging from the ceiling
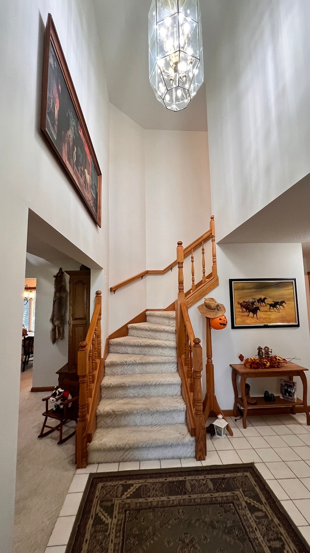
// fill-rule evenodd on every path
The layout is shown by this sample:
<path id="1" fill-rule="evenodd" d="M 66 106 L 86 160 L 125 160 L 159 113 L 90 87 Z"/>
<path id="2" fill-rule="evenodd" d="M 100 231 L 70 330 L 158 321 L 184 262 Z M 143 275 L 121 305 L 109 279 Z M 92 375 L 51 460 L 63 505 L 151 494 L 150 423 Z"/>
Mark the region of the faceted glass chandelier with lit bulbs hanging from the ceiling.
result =
<path id="1" fill-rule="evenodd" d="M 148 13 L 149 82 L 167 109 L 188 106 L 204 82 L 199 0 L 153 0 Z"/>

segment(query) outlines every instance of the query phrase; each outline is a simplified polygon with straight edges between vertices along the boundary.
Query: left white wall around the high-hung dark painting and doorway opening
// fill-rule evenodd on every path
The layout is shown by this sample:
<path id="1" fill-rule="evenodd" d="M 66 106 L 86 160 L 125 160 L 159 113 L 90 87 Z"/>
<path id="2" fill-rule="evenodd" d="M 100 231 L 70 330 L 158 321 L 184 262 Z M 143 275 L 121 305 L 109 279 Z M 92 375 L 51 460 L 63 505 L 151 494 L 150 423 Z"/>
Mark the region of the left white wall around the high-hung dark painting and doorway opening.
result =
<path id="1" fill-rule="evenodd" d="M 42 53 L 48 12 L 54 18 L 103 173 L 101 229 L 89 216 L 40 132 Z M 8 553 L 14 513 L 28 209 L 80 251 L 87 252 L 99 267 L 108 265 L 109 101 L 93 10 L 82 0 L 2 2 L 0 50 L 0 72 L 5 83 L 0 90 L 0 249 L 7 283 L 2 301 L 6 319 L 0 322 L 0 416 L 4 421 L 1 443 L 5 444 L 0 459 L 0 549 Z M 105 299 L 107 302 L 107 291 Z"/>

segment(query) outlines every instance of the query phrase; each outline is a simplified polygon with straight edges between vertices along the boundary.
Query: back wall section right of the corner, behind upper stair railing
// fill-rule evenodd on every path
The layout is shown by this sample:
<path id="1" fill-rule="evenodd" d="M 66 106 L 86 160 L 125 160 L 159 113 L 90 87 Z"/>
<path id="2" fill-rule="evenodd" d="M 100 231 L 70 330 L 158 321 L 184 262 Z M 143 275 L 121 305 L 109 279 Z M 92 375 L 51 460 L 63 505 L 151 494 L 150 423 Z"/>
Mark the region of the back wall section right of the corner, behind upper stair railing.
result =
<path id="1" fill-rule="evenodd" d="M 207 141 L 205 132 L 145 131 L 147 269 L 164 269 L 177 258 L 178 241 L 188 246 L 209 229 Z M 147 276 L 148 308 L 167 307 L 177 295 L 177 268 Z"/>

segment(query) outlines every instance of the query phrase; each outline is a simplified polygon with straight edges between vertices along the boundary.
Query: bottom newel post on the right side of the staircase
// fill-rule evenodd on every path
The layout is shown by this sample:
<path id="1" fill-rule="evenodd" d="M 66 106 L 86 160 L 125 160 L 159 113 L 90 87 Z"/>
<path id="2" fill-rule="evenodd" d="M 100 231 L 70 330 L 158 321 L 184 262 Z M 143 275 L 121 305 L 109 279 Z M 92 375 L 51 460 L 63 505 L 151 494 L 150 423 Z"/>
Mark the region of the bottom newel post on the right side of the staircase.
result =
<path id="1" fill-rule="evenodd" d="M 195 413 L 195 438 L 196 460 L 204 461 L 207 455 L 207 435 L 205 419 L 202 408 L 202 347 L 200 339 L 194 338 L 193 347 L 193 376 L 194 376 L 194 413 Z"/>

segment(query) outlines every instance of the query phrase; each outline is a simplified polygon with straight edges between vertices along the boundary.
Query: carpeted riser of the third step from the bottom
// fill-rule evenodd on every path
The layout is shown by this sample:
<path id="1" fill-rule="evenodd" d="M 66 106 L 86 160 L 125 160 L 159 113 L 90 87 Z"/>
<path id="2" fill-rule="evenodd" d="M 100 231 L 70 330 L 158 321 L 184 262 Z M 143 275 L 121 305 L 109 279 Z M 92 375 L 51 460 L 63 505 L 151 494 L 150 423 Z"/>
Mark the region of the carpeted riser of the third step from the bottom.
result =
<path id="1" fill-rule="evenodd" d="M 148 396 L 180 395 L 180 384 L 146 384 L 145 386 L 101 387 L 101 399 L 145 398 Z"/>

